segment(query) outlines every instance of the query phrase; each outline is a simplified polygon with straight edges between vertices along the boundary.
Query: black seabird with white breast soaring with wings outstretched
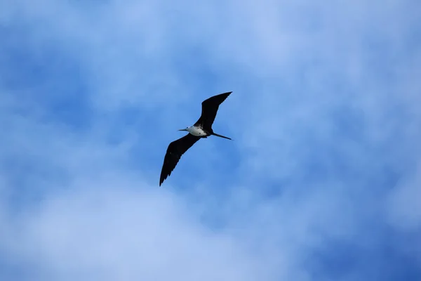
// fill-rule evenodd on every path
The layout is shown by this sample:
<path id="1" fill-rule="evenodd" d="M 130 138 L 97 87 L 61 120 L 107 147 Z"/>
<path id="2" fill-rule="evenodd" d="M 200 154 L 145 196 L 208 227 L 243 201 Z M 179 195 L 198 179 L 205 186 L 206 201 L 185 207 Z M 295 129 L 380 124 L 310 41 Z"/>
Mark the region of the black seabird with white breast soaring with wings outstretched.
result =
<path id="1" fill-rule="evenodd" d="M 212 124 L 215 121 L 216 112 L 218 112 L 220 104 L 226 98 L 228 98 L 231 93 L 232 91 L 227 93 L 220 93 L 219 95 L 203 100 L 201 103 L 201 116 L 197 122 L 194 123 L 193 126 L 178 130 L 187 131 L 189 133 L 168 145 L 166 155 L 163 158 L 161 177 L 159 178 L 159 186 L 161 186 L 163 181 L 165 181 L 166 178 L 171 175 L 171 172 L 174 170 L 175 166 L 177 166 L 178 161 L 180 161 L 182 155 L 201 138 L 208 138 L 208 136 L 218 136 L 220 138 L 227 138 L 228 140 L 232 140 L 232 138 L 215 133 L 212 129 Z"/>

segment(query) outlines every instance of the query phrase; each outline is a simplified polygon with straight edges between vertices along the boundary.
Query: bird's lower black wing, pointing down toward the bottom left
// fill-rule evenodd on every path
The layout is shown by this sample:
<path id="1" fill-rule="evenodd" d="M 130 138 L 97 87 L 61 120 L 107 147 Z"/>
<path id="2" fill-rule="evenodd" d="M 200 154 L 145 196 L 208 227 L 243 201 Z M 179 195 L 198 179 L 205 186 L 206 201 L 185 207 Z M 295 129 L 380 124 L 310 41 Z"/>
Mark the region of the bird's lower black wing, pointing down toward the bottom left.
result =
<path id="1" fill-rule="evenodd" d="M 163 158 L 163 165 L 161 170 L 161 178 L 159 179 L 159 186 L 165 181 L 165 179 L 171 175 L 171 172 L 177 165 L 181 156 L 196 143 L 199 141 L 199 136 L 193 136 L 190 133 L 187 133 L 186 136 L 179 138 L 177 141 L 173 141 L 168 145 L 166 155 Z"/>

